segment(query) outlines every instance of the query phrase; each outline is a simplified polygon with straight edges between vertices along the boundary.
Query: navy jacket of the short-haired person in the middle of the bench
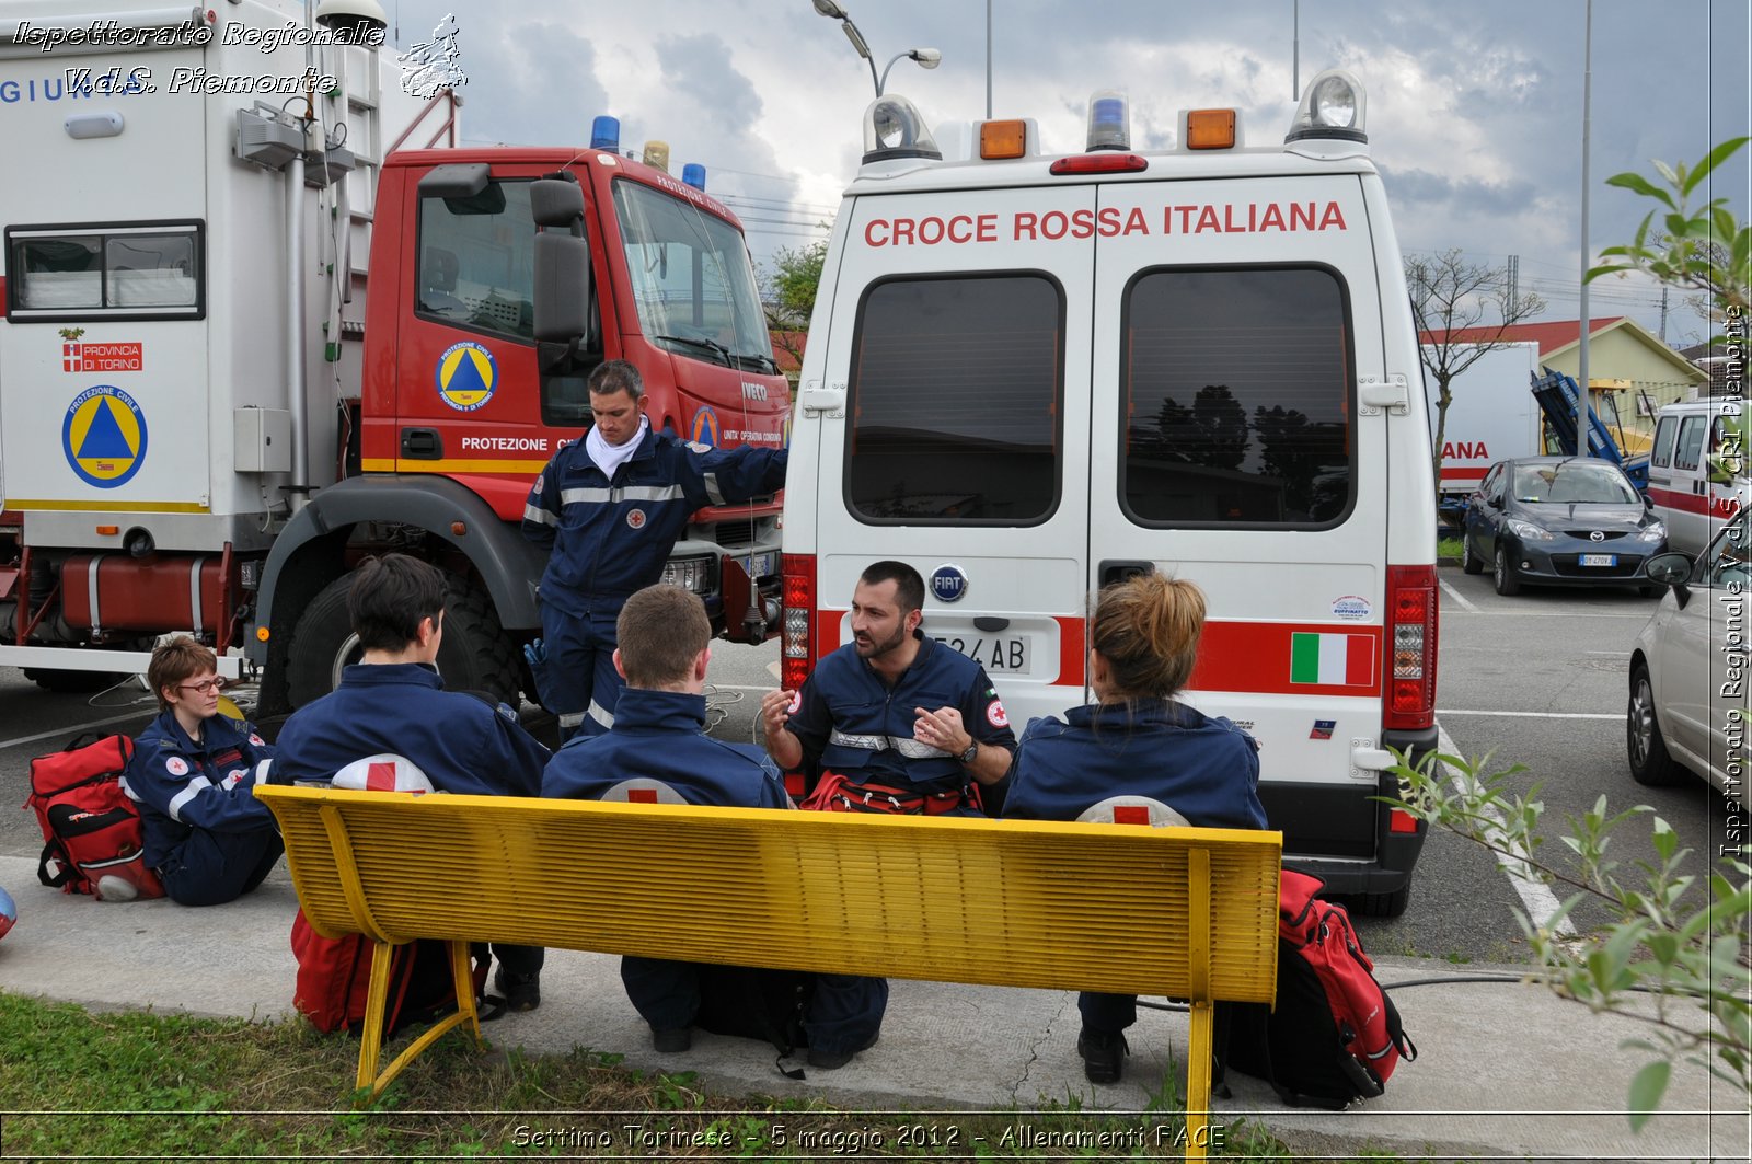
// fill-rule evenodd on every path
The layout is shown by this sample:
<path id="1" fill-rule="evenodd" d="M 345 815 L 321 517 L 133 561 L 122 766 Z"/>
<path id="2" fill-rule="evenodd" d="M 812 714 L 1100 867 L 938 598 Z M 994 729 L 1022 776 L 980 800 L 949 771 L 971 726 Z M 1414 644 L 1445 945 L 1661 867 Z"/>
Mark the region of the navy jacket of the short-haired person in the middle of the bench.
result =
<path id="1" fill-rule="evenodd" d="M 766 752 L 706 735 L 706 696 L 627 687 L 615 726 L 573 736 L 541 775 L 541 796 L 601 799 L 632 777 L 662 780 L 690 805 L 790 808 Z"/>

